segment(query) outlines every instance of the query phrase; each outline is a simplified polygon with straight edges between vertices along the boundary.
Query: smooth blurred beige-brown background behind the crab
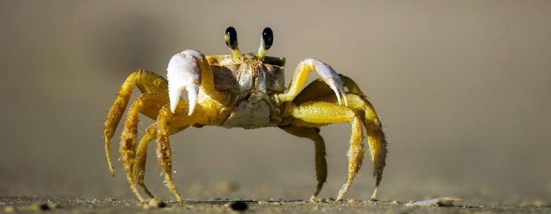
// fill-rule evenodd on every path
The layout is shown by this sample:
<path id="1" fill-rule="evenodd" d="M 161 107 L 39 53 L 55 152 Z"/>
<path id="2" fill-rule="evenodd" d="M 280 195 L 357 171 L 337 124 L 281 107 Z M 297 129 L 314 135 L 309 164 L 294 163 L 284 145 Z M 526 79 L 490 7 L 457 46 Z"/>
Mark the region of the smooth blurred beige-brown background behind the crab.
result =
<path id="1" fill-rule="evenodd" d="M 390 141 L 378 199 L 550 204 L 550 12 L 550 1 L 0 1 L 0 196 L 136 200 L 117 161 L 121 128 L 115 178 L 102 138 L 126 77 L 165 76 L 188 48 L 229 54 L 228 26 L 255 52 L 269 26 L 287 83 L 316 57 L 369 96 Z M 321 134 L 320 196 L 336 197 L 350 125 Z M 186 199 L 309 199 L 316 185 L 314 144 L 277 128 L 190 128 L 171 142 Z M 174 199 L 153 147 L 145 183 Z M 345 197 L 368 200 L 371 172 L 366 159 Z"/>

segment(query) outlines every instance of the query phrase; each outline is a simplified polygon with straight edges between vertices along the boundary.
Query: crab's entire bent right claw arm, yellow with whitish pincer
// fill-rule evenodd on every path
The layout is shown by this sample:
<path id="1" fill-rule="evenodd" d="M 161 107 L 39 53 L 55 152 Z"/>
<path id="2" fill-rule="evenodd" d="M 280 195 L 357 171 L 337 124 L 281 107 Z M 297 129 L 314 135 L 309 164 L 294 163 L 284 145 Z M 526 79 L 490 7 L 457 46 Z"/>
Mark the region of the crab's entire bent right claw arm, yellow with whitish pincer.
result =
<path id="1" fill-rule="evenodd" d="M 295 73 L 293 74 L 293 81 L 289 85 L 289 91 L 285 94 L 279 94 L 278 99 L 280 102 L 292 101 L 296 95 L 299 94 L 300 90 L 306 84 L 308 80 L 309 73 L 315 70 L 320 76 L 321 79 L 333 90 L 337 96 L 339 105 L 342 105 L 342 100 L 344 105 L 348 105 L 346 95 L 344 94 L 344 85 L 335 70 L 325 62 L 322 62 L 319 59 L 309 58 L 299 63 L 299 66 L 296 67 Z"/>

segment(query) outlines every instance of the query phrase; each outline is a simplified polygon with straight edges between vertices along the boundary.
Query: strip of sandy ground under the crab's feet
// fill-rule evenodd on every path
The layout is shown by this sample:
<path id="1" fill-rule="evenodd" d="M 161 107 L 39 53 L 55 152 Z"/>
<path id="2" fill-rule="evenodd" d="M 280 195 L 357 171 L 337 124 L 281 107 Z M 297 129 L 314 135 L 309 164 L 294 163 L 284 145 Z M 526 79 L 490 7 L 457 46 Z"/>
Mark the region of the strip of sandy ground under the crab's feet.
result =
<path id="1" fill-rule="evenodd" d="M 549 213 L 551 207 L 468 206 L 446 207 L 406 206 L 404 202 L 371 202 L 348 200 L 341 202 L 284 201 L 284 200 L 202 200 L 179 204 L 166 201 L 159 204 L 141 204 L 115 199 L 41 199 L 33 197 L 1 197 L 4 212 L 59 212 L 59 213 Z"/>

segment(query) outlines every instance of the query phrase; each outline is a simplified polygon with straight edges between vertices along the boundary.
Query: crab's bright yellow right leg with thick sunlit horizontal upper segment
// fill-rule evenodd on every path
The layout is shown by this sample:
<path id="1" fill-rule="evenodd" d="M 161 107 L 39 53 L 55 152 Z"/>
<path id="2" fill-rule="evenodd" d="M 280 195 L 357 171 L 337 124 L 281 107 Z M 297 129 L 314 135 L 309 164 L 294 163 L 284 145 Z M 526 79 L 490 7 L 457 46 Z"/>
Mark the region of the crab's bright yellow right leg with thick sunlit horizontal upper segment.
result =
<path id="1" fill-rule="evenodd" d="M 348 181 L 342 186 L 337 196 L 337 201 L 341 200 L 364 161 L 364 135 L 360 116 L 351 108 L 337 105 L 336 103 L 320 101 L 310 101 L 302 103 L 300 106 L 293 106 L 290 113 L 291 116 L 309 123 L 350 122 L 352 124 L 350 149 L 347 152 Z"/>

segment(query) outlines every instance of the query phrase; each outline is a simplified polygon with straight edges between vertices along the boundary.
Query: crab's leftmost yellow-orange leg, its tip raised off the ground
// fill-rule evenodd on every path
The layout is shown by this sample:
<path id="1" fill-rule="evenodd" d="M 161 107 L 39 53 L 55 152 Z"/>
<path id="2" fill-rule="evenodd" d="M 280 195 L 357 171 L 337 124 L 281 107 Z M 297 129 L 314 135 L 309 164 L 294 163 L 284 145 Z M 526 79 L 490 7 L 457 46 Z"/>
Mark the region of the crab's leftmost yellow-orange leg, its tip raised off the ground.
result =
<path id="1" fill-rule="evenodd" d="M 109 170 L 111 174 L 115 176 L 115 169 L 111 164 L 111 139 L 115 135 L 115 130 L 120 122 L 122 115 L 125 112 L 126 106 L 134 86 L 138 86 L 138 89 L 142 93 L 147 92 L 159 92 L 168 93 L 168 83 L 163 76 L 149 72 L 147 70 L 138 70 L 128 76 L 125 83 L 122 84 L 121 90 L 118 91 L 117 99 L 109 109 L 107 114 L 107 120 L 104 124 L 104 136 L 105 136 L 105 156 L 107 157 L 107 163 L 109 164 Z"/>

